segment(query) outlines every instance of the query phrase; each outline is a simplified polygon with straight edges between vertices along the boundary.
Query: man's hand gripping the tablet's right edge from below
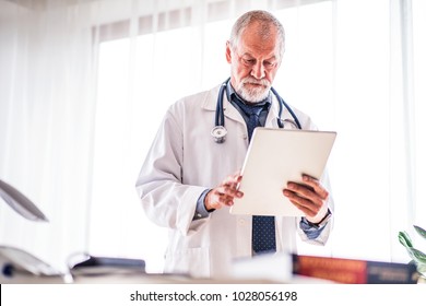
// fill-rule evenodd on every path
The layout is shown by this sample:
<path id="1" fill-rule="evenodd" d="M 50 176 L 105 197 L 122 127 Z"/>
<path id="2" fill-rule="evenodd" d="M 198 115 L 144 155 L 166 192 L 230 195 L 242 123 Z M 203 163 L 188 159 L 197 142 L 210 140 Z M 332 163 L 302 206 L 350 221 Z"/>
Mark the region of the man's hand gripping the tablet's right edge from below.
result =
<path id="1" fill-rule="evenodd" d="M 283 190 L 285 197 L 301 210 L 311 223 L 319 223 L 327 214 L 329 191 L 318 179 L 303 175 L 303 184 L 289 181 Z"/>

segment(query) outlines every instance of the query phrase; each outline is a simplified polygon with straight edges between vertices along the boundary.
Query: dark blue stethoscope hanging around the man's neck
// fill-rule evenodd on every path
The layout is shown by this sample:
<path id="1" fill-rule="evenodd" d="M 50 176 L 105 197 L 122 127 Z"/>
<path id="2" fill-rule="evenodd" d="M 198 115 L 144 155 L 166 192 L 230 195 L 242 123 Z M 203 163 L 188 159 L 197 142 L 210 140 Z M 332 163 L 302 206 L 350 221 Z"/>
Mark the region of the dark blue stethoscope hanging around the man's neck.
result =
<path id="1" fill-rule="evenodd" d="M 223 97 L 224 93 L 226 90 L 226 85 L 229 82 L 228 78 L 225 82 L 222 83 L 221 90 L 218 91 L 218 96 L 217 96 L 217 104 L 216 104 L 216 114 L 215 114 L 215 120 L 214 120 L 214 128 L 212 129 L 212 137 L 215 142 L 217 143 L 223 143 L 225 142 L 227 130 L 225 128 L 225 115 L 223 110 Z M 288 113 L 292 115 L 293 120 L 285 119 L 284 121 L 288 121 L 292 125 L 296 126 L 299 130 L 301 130 L 301 125 L 299 120 L 297 119 L 296 114 L 294 114 L 293 109 L 284 102 L 284 99 L 279 95 L 279 93 L 271 87 L 272 93 L 275 95 L 280 103 L 280 110 L 279 110 L 279 117 L 276 117 L 276 122 L 279 123 L 279 127 L 281 129 L 284 129 L 284 123 L 283 120 L 281 119 L 281 115 L 283 114 L 283 106 L 288 110 Z"/>

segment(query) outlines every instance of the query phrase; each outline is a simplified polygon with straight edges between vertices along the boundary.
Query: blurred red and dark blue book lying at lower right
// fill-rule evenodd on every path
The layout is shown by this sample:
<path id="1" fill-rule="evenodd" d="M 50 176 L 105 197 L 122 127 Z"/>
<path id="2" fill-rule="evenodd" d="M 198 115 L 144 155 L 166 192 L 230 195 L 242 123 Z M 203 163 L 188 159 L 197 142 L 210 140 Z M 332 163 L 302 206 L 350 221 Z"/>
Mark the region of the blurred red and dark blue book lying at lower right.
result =
<path id="1" fill-rule="evenodd" d="M 293 255 L 293 274 L 344 284 L 415 284 L 414 263 Z"/>

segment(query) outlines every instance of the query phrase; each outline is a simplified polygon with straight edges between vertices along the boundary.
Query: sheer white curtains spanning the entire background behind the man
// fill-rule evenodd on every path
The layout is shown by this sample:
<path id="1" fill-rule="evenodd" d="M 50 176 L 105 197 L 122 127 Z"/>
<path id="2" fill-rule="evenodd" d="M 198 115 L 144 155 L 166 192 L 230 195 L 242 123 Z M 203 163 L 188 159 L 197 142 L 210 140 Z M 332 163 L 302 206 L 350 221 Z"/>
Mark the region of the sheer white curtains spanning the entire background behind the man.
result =
<path id="1" fill-rule="evenodd" d="M 228 75 L 249 9 L 286 28 L 277 91 L 338 131 L 334 233 L 300 251 L 406 261 L 398 232 L 426 227 L 422 0 L 0 0 L 0 179 L 50 220 L 0 205 L 0 244 L 59 268 L 90 251 L 161 271 L 166 231 L 139 205 L 139 168 L 166 107 Z"/>

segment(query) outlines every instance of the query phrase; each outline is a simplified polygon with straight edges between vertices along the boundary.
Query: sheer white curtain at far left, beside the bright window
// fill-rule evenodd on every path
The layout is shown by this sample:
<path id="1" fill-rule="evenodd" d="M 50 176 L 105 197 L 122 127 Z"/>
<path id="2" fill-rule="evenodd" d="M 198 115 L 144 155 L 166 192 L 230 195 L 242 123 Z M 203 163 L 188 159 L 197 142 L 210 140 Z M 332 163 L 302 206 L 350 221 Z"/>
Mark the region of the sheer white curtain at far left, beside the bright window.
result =
<path id="1" fill-rule="evenodd" d="M 0 178 L 50 221 L 1 203 L 0 235 L 63 269 L 86 247 L 95 83 L 90 12 L 60 2 L 0 2 Z"/>

